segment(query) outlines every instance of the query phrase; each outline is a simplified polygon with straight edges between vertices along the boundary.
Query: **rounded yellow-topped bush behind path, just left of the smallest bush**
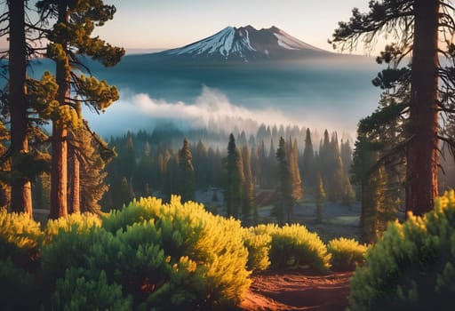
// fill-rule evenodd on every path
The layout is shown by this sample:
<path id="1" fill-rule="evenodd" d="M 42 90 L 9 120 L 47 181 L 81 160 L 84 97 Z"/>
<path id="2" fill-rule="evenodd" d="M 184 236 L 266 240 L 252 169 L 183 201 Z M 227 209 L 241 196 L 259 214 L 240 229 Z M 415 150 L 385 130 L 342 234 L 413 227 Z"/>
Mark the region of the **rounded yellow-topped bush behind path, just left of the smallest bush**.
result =
<path id="1" fill-rule="evenodd" d="M 301 225 L 286 225 L 272 232 L 270 261 L 273 267 L 309 267 L 324 272 L 331 255 L 318 235 Z"/>

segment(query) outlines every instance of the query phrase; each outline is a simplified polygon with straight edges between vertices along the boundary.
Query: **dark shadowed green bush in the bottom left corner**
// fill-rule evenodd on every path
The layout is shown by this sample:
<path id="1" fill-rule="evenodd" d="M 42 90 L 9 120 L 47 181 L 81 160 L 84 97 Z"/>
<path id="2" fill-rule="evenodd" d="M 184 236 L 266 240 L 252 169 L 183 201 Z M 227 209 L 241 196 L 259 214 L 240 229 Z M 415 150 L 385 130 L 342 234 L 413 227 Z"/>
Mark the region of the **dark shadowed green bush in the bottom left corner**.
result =
<path id="1" fill-rule="evenodd" d="M 36 310 L 39 306 L 33 276 L 11 259 L 0 259 L 0 306 L 4 311 Z"/>

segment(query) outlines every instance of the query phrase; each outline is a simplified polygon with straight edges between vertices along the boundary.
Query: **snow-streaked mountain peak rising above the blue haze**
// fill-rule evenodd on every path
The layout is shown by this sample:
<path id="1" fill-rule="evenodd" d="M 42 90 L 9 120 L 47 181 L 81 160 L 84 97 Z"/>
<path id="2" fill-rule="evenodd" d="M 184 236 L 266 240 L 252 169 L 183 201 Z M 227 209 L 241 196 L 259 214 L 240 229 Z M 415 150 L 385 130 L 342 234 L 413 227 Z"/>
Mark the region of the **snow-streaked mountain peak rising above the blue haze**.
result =
<path id="1" fill-rule="evenodd" d="M 285 33 L 280 28 L 227 27 L 194 44 L 164 51 L 192 59 L 265 60 L 330 54 Z"/>

